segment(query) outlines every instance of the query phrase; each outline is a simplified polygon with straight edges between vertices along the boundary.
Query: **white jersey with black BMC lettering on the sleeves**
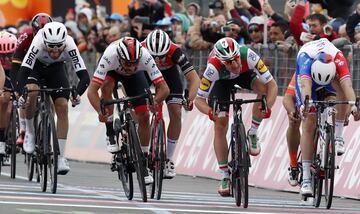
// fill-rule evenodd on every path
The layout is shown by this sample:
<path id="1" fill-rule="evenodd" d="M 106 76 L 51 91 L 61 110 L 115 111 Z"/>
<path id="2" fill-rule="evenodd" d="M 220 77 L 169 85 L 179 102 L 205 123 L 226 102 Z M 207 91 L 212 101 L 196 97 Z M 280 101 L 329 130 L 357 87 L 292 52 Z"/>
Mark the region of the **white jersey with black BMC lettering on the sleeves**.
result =
<path id="1" fill-rule="evenodd" d="M 40 29 L 31 42 L 30 48 L 27 51 L 21 66 L 33 69 L 36 60 L 40 61 L 46 66 L 49 66 L 55 62 L 64 62 L 70 60 L 76 72 L 80 70 L 86 70 L 84 61 L 80 56 L 79 49 L 77 48 L 74 39 L 71 36 L 67 35 L 65 40 L 65 49 L 61 55 L 57 59 L 52 59 L 49 56 L 44 39 L 42 38 L 42 34 L 43 29 Z"/>

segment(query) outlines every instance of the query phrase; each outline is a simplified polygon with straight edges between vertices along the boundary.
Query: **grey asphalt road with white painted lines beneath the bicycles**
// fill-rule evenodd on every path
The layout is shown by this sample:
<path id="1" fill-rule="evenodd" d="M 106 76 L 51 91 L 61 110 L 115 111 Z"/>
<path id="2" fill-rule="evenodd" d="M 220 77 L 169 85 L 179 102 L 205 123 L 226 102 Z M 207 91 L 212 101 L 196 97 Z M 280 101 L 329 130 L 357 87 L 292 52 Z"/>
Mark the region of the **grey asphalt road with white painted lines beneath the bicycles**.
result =
<path id="1" fill-rule="evenodd" d="M 129 201 L 109 165 L 70 161 L 70 166 L 67 175 L 58 177 L 57 193 L 51 194 L 27 180 L 19 155 L 16 179 L 10 178 L 9 167 L 2 168 L 0 213 L 360 213 L 359 200 L 334 198 L 327 210 L 324 202 L 320 208 L 304 204 L 296 193 L 254 187 L 249 189 L 249 207 L 244 209 L 235 205 L 234 198 L 217 194 L 217 180 L 182 175 L 164 181 L 160 200 L 142 202 L 136 186 Z"/>

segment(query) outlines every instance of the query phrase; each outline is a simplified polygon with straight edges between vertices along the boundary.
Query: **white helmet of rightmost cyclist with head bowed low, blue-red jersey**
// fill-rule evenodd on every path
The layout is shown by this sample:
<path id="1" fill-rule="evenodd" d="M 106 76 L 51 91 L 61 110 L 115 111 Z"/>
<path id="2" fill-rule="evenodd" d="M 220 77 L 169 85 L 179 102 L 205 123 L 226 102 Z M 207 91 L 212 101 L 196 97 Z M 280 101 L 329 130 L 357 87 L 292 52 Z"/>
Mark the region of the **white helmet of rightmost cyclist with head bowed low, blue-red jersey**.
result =
<path id="1" fill-rule="evenodd" d="M 332 56 L 319 53 L 311 65 L 311 77 L 319 85 L 328 85 L 336 75 L 336 66 Z"/>

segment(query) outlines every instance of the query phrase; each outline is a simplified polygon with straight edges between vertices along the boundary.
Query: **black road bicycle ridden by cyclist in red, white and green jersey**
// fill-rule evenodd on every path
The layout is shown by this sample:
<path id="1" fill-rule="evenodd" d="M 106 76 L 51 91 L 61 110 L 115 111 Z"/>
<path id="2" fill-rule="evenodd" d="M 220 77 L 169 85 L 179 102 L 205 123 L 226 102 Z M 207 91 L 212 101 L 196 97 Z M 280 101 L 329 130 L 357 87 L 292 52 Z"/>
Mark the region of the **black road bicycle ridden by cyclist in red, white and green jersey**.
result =
<path id="1" fill-rule="evenodd" d="M 237 99 L 235 94 L 241 90 L 234 86 L 231 90 L 231 101 L 218 101 L 214 99 L 213 112 L 216 112 L 220 104 L 231 105 L 233 107 L 233 121 L 231 124 L 231 141 L 229 145 L 230 158 L 230 183 L 231 195 L 234 197 L 237 206 L 241 203 L 244 208 L 248 207 L 249 202 L 249 168 L 251 167 L 248 138 L 242 120 L 242 105 L 247 103 L 261 103 L 261 111 L 267 109 L 266 96 L 262 99 Z"/>

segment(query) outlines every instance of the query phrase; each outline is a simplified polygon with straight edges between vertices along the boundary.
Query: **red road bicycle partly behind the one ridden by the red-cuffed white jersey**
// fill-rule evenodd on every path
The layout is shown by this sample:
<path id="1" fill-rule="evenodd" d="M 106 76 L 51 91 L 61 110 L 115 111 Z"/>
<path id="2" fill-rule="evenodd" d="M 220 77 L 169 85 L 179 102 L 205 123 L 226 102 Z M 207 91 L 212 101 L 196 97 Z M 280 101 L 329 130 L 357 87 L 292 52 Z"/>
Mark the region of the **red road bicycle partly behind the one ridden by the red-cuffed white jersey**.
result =
<path id="1" fill-rule="evenodd" d="M 154 94 L 153 94 L 154 95 Z M 170 94 L 181 95 L 183 94 Z M 170 96 L 169 95 L 169 96 Z M 189 102 L 189 90 L 185 89 L 182 105 L 185 106 Z M 150 198 L 160 200 L 162 193 L 162 183 L 164 179 L 164 170 L 166 164 L 166 128 L 163 118 L 162 104 L 159 105 L 157 111 L 151 117 L 151 137 L 149 149 L 149 168 L 152 170 L 154 182 L 151 186 Z"/>

